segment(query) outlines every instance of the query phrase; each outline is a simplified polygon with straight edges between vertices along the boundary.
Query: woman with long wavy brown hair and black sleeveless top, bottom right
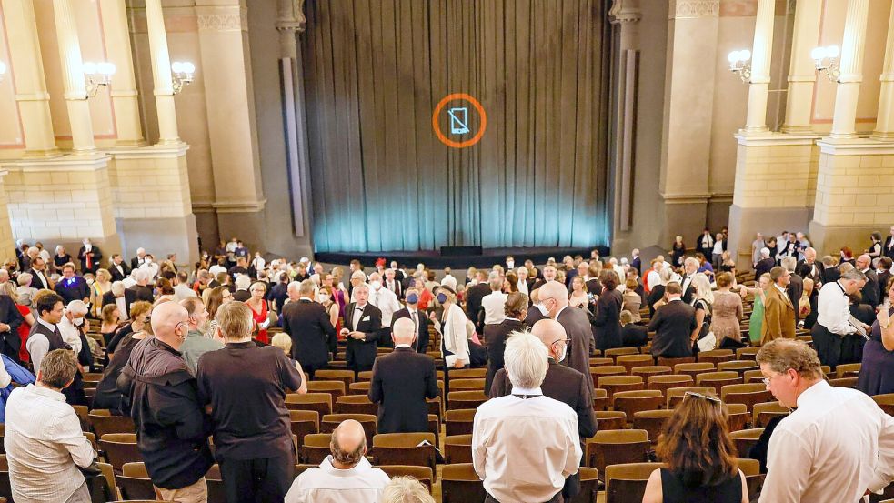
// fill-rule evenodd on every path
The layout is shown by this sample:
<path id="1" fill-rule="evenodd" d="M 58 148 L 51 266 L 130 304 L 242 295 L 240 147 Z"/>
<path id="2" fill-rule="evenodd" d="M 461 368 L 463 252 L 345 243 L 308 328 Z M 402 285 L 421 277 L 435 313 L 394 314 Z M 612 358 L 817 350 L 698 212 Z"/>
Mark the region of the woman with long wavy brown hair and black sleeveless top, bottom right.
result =
<path id="1" fill-rule="evenodd" d="M 720 400 L 686 393 L 655 448 L 668 468 L 649 476 L 643 503 L 748 503 L 735 452 Z"/>

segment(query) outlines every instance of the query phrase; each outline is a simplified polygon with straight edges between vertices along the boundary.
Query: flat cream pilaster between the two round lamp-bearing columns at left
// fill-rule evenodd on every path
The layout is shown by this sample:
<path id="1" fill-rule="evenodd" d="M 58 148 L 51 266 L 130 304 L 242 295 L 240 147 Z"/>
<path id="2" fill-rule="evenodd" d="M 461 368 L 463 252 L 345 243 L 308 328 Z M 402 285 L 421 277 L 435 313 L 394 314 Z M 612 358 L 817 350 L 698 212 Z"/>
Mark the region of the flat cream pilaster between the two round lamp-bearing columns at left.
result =
<path id="1" fill-rule="evenodd" d="M 116 66 L 115 78 L 109 89 L 118 129 L 116 145 L 145 145 L 143 127 L 140 125 L 139 102 L 136 97 L 134 59 L 130 48 L 125 0 L 99 0 L 99 5 L 103 13 L 105 50 L 109 61 Z"/>

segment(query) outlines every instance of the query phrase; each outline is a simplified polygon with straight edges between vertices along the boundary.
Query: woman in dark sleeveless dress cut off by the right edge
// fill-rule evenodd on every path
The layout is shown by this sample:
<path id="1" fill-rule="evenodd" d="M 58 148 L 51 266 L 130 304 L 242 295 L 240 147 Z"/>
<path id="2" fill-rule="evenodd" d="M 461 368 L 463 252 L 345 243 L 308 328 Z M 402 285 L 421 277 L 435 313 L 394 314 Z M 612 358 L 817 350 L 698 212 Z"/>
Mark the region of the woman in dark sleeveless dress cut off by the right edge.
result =
<path id="1" fill-rule="evenodd" d="M 857 389 L 872 395 L 894 393 L 894 278 L 888 281 L 888 297 L 872 323 L 872 335 L 863 347 Z"/>

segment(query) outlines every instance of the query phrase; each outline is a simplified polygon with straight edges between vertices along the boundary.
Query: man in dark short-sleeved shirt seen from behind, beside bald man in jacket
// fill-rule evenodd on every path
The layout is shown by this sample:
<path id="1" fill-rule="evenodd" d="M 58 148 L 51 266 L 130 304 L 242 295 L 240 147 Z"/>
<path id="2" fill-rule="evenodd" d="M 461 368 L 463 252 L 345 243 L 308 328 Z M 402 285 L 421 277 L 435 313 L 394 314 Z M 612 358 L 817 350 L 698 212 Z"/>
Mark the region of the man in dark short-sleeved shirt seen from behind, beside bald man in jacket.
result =
<path id="1" fill-rule="evenodd" d="M 307 392 L 301 366 L 278 347 L 257 347 L 246 304 L 222 304 L 216 320 L 226 347 L 199 358 L 196 380 L 211 408 L 226 500 L 281 501 L 295 477 L 286 394 Z"/>

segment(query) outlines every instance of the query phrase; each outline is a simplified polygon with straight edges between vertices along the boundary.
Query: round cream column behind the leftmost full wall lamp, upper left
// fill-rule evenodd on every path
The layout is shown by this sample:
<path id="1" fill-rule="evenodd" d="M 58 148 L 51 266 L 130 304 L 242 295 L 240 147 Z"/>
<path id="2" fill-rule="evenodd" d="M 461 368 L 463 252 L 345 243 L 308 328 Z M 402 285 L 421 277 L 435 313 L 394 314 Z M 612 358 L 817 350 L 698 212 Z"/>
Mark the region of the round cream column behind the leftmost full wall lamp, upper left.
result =
<path id="1" fill-rule="evenodd" d="M 71 123 L 74 153 L 92 153 L 96 146 L 93 141 L 90 106 L 87 105 L 84 62 L 81 59 L 81 46 L 77 40 L 75 6 L 72 5 L 72 0 L 53 0 L 53 13 L 55 35 L 59 44 L 59 58 L 62 60 L 65 104 L 68 108 L 68 121 Z"/>

